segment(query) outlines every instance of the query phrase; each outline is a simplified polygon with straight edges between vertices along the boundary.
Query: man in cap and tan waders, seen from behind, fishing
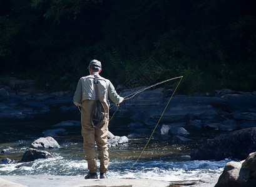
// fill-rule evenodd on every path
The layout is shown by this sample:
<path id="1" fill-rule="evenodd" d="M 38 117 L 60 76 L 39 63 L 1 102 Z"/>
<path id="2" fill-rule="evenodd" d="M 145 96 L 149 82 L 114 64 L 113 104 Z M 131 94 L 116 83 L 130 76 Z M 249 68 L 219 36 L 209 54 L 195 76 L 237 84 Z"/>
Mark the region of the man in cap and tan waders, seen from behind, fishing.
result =
<path id="1" fill-rule="evenodd" d="M 107 178 L 108 170 L 108 97 L 119 104 L 123 102 L 110 80 L 101 77 L 101 62 L 91 60 L 89 64 L 90 75 L 81 77 L 74 93 L 73 102 L 81 106 L 81 127 L 83 135 L 83 150 L 88 163 L 89 173 L 85 179 L 96 179 L 96 151 L 95 141 L 98 146 L 100 160 L 100 178 Z M 96 107 L 95 107 L 96 106 Z"/>

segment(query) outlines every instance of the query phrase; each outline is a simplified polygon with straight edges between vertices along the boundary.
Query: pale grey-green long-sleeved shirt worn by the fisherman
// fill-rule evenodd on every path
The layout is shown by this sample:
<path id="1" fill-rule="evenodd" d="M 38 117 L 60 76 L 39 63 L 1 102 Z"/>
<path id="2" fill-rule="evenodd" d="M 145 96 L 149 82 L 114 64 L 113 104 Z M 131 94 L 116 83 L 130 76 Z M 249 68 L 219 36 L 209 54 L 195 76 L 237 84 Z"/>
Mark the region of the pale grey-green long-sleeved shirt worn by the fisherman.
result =
<path id="1" fill-rule="evenodd" d="M 116 104 L 123 101 L 123 98 L 116 93 L 115 87 L 111 84 L 110 80 L 101 77 L 98 73 L 93 73 L 86 77 L 81 77 L 78 80 L 78 85 L 76 87 L 76 92 L 74 93 L 73 102 L 75 105 L 80 105 L 83 100 L 96 99 L 95 84 L 94 79 L 98 80 L 98 99 L 101 102 L 108 103 L 108 97 L 110 100 Z"/>

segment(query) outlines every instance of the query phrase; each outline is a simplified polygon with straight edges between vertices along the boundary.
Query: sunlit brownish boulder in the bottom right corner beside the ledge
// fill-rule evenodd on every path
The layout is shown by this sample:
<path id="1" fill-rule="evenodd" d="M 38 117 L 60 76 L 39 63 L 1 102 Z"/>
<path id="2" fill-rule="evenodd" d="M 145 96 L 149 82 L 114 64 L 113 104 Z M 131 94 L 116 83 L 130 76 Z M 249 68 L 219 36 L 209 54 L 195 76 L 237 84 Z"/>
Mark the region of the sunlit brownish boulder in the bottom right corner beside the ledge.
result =
<path id="1" fill-rule="evenodd" d="M 256 152 L 250 153 L 246 160 L 230 161 L 224 168 L 215 187 L 253 187 L 256 186 Z"/>

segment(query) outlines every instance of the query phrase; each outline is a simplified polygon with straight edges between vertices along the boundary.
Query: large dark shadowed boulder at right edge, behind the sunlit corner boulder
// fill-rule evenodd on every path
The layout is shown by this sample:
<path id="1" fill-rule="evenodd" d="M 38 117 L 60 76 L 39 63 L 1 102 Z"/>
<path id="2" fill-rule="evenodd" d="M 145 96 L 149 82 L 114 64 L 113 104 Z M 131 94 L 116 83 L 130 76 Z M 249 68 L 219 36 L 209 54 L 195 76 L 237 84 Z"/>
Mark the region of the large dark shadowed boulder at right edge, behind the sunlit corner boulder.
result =
<path id="1" fill-rule="evenodd" d="M 256 127 L 208 139 L 198 150 L 192 151 L 190 156 L 192 160 L 244 160 L 253 151 L 256 151 Z"/>

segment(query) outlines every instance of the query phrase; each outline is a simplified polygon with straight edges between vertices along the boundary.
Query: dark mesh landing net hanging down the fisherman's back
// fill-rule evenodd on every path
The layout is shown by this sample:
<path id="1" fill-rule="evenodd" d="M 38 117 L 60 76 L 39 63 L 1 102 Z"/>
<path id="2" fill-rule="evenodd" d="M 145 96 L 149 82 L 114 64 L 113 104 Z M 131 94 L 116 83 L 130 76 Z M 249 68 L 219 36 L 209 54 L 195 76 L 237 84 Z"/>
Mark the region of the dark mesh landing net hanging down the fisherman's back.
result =
<path id="1" fill-rule="evenodd" d="M 98 83 L 99 80 L 95 76 L 95 78 L 93 79 L 93 84 L 95 84 L 96 99 L 93 102 L 93 106 L 91 107 L 91 126 L 93 128 L 96 128 L 100 124 L 100 122 L 103 121 L 106 114 L 105 108 L 99 100 Z"/>

